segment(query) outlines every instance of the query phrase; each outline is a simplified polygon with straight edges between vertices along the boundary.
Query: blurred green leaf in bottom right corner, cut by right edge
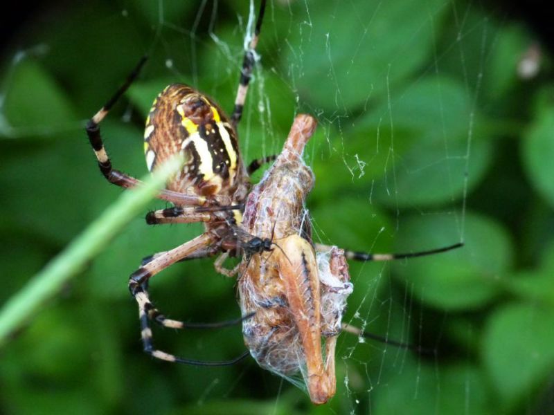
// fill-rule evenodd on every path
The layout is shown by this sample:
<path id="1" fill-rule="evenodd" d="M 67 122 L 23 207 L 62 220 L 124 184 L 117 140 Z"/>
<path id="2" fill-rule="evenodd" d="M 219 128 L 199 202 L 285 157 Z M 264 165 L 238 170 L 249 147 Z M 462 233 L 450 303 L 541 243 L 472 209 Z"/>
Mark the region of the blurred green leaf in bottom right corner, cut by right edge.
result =
<path id="1" fill-rule="evenodd" d="M 509 304 L 492 314 L 482 357 L 504 405 L 528 396 L 554 370 L 554 309 L 533 303 Z"/>

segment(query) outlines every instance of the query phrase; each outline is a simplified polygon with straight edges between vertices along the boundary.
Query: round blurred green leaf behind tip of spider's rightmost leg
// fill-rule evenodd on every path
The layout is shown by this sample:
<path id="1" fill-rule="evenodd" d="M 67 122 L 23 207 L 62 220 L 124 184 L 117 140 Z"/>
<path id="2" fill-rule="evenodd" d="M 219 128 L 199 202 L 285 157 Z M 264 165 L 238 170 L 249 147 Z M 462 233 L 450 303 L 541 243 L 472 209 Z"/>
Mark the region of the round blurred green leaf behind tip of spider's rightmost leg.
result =
<path id="1" fill-rule="evenodd" d="M 452 214 L 411 216 L 401 222 L 397 252 L 449 246 L 460 240 L 461 218 Z M 471 310 L 490 303 L 501 291 L 514 255 L 506 231 L 484 216 L 466 212 L 465 246 L 430 257 L 395 262 L 393 270 L 409 284 L 414 297 L 429 306 Z"/>

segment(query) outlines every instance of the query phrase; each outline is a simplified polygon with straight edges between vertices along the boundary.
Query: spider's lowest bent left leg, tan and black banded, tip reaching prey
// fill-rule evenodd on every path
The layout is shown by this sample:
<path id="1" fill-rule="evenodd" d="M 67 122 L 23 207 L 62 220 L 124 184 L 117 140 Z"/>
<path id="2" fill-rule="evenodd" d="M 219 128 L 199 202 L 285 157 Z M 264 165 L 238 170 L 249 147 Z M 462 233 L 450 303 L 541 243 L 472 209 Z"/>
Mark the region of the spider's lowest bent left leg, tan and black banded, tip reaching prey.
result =
<path id="1" fill-rule="evenodd" d="M 183 259 L 188 255 L 194 255 L 198 250 L 204 250 L 207 246 L 213 243 L 213 235 L 206 232 L 195 239 L 183 243 L 181 246 L 163 252 L 163 254 L 154 257 L 152 261 L 149 261 L 147 264 L 141 266 L 129 277 L 129 291 L 133 295 L 136 302 L 139 304 L 139 319 L 141 321 L 141 338 L 143 341 L 144 351 L 154 358 L 161 360 L 166 360 L 168 362 L 180 362 L 187 365 L 202 365 L 202 366 L 225 366 L 233 365 L 235 362 L 242 360 L 247 356 L 248 353 L 243 353 L 238 358 L 233 360 L 226 360 L 220 362 L 203 362 L 199 360 L 191 360 L 186 358 L 180 358 L 178 356 L 166 353 L 165 351 L 154 349 L 154 343 L 152 340 L 152 329 L 150 329 L 150 318 L 159 322 L 163 326 L 173 327 L 173 328 L 184 328 L 187 326 L 184 322 L 178 322 L 177 320 L 169 320 L 163 317 L 159 311 L 154 308 L 150 298 L 148 297 L 148 292 L 145 291 L 145 284 L 148 280 L 159 273 L 161 270 L 168 268 L 168 266 L 175 264 L 179 259 Z M 224 322 L 228 324 L 229 322 Z M 222 324 L 222 323 L 215 323 Z"/>

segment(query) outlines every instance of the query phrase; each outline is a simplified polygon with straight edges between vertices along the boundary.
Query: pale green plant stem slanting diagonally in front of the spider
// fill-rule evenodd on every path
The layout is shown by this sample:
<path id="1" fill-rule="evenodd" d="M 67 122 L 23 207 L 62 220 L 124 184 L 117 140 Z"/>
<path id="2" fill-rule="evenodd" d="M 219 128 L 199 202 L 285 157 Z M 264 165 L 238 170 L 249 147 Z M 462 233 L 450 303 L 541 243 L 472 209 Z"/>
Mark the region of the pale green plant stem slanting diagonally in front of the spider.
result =
<path id="1" fill-rule="evenodd" d="M 60 291 L 63 284 L 78 275 L 88 261 L 107 247 L 109 241 L 144 209 L 168 178 L 177 172 L 182 161 L 181 157 L 168 160 L 145 180 L 143 186 L 123 193 L 66 249 L 30 279 L 21 291 L 8 299 L 0 310 L 0 347 L 6 343 L 10 333 L 24 324 L 37 312 L 39 306 Z"/>

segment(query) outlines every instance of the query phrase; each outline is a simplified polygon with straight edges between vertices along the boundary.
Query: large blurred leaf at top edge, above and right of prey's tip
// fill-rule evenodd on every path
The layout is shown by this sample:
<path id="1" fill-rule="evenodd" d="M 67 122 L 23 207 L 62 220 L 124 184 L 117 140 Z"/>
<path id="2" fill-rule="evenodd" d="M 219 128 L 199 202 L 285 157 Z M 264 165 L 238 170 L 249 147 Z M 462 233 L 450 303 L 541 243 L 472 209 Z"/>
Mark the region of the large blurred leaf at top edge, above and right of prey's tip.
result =
<path id="1" fill-rule="evenodd" d="M 303 99 L 330 114 L 362 107 L 413 75 L 431 55 L 434 27 L 448 10 L 443 1 L 298 6 L 297 13 L 310 13 L 287 39 L 285 71 L 297 77 Z"/>

